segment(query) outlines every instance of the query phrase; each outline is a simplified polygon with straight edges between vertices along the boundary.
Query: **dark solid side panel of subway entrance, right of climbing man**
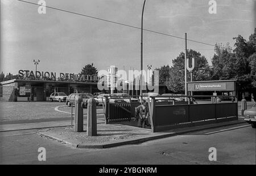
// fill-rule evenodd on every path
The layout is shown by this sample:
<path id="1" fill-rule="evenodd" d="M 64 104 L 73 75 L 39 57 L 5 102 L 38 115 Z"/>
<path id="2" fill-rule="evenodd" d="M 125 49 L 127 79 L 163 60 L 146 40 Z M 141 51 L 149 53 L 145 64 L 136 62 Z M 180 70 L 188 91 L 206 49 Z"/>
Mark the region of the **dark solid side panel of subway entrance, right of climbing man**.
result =
<path id="1" fill-rule="evenodd" d="M 171 130 L 176 125 L 212 123 L 238 119 L 237 102 L 217 104 L 154 105 L 151 128 L 153 132 Z M 223 118 L 226 118 L 223 120 Z M 183 125 L 186 126 L 186 125 Z"/>

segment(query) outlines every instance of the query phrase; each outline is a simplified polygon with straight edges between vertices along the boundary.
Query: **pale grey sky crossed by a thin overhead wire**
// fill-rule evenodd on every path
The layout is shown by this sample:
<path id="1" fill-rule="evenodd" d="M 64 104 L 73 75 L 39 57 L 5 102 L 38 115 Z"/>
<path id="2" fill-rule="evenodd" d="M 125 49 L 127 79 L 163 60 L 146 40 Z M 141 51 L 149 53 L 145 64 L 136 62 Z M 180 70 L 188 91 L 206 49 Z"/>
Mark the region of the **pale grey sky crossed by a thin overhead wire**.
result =
<path id="1" fill-rule="evenodd" d="M 38 3 L 38 0 L 25 0 Z M 45 0 L 46 6 L 141 27 L 143 0 Z M 143 28 L 216 44 L 234 45 L 233 37 L 246 40 L 254 32 L 254 0 L 216 0 L 210 14 L 208 0 L 146 0 Z M 68 12 L 38 7 L 18 0 L 1 0 L 0 71 L 18 74 L 38 71 L 78 73 L 88 63 L 98 70 L 110 65 L 122 70 L 140 68 L 141 30 Z M 204 55 L 209 64 L 214 46 L 187 42 L 188 49 Z M 172 65 L 181 51 L 180 38 L 143 32 L 143 68 Z"/>

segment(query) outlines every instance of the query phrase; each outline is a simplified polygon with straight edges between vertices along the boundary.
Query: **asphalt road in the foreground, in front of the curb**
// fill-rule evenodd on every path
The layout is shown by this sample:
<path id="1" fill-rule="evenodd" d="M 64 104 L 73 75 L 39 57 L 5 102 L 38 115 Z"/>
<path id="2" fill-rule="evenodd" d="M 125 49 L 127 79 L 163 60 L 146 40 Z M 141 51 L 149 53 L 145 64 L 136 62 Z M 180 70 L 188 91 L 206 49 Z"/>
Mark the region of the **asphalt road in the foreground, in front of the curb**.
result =
<path id="1" fill-rule="evenodd" d="M 255 164 L 256 131 L 246 123 L 109 149 L 77 149 L 34 130 L 1 132 L 1 164 Z M 46 161 L 38 161 L 38 148 Z M 217 149 L 209 161 L 208 149 Z"/>

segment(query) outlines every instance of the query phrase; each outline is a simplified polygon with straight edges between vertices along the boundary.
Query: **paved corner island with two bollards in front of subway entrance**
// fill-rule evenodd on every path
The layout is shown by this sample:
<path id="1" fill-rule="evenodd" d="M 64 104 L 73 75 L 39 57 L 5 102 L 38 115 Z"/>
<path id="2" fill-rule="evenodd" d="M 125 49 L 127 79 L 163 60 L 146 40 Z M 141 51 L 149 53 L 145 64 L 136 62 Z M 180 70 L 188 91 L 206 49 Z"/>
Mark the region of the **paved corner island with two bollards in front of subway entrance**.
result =
<path id="1" fill-rule="evenodd" d="M 155 133 L 147 128 L 138 128 L 117 123 L 108 125 L 105 125 L 105 123 L 98 123 L 97 136 L 87 136 L 86 125 L 84 125 L 84 132 L 74 132 L 69 126 L 42 129 L 38 130 L 38 133 L 46 138 L 55 139 L 77 148 L 110 148 L 119 145 L 138 144 L 148 140 L 168 138 L 210 128 L 237 125 L 240 123 L 245 122 L 243 119 L 238 119 L 238 121 L 214 123 L 189 128 L 177 128 L 175 130 Z"/>

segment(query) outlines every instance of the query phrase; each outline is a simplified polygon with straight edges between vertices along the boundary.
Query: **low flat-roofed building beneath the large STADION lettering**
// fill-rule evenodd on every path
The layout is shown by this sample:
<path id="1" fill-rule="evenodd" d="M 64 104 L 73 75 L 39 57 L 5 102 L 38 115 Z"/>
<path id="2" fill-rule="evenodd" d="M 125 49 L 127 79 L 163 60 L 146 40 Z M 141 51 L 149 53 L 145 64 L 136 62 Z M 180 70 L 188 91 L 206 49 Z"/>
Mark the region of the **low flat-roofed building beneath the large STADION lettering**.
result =
<path id="1" fill-rule="evenodd" d="M 100 92 L 96 82 L 13 79 L 1 84 L 3 101 L 46 101 L 53 92 Z"/>

